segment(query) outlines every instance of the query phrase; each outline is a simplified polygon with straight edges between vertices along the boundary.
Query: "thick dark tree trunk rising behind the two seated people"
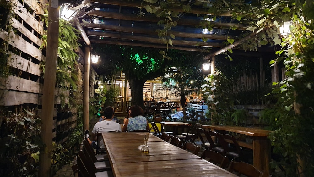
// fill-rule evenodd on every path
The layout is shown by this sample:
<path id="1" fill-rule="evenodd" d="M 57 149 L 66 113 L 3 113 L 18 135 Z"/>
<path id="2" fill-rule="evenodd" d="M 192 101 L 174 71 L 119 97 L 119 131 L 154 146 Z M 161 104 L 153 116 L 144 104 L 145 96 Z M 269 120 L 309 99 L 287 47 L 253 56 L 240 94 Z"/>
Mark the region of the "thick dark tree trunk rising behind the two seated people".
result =
<path id="1" fill-rule="evenodd" d="M 131 89 L 131 97 L 132 97 L 132 105 L 137 104 L 141 108 L 144 107 L 144 99 L 143 99 L 143 91 L 144 91 L 144 83 L 146 80 L 136 80 L 134 78 L 128 78 L 130 89 Z"/>

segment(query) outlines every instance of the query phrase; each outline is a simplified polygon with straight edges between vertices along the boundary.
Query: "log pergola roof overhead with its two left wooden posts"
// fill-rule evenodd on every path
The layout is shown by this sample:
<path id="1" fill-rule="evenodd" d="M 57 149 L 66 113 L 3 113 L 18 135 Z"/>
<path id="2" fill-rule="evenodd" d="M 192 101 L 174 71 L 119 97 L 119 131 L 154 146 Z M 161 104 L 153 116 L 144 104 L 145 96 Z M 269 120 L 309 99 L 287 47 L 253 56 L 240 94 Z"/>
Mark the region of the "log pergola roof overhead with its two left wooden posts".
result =
<path id="1" fill-rule="evenodd" d="M 76 6 L 77 5 L 78 4 L 76 4 Z M 177 25 L 172 27 L 171 30 L 167 32 L 166 36 L 163 36 L 166 41 L 171 38 L 170 36 L 175 36 L 174 39 L 171 38 L 172 45 L 170 45 L 169 42 L 167 44 L 165 40 L 159 38 L 157 34 L 158 30 L 163 29 L 163 26 L 157 25 L 157 22 L 163 18 L 158 18 L 154 14 L 148 13 L 144 9 L 146 5 L 148 5 L 146 2 L 141 3 L 137 0 L 91 0 L 83 7 L 83 10 L 93 6 L 95 8 L 91 8 L 93 10 L 89 11 L 87 15 L 73 20 L 77 29 L 80 31 L 82 42 L 84 41 L 85 43 L 83 93 L 84 129 L 88 129 L 89 127 L 89 63 L 90 49 L 93 43 L 208 52 L 206 58 L 212 58 L 212 71 L 214 71 L 214 56 L 228 49 L 239 49 L 238 53 L 240 53 L 240 55 L 250 55 L 250 53 L 245 53 L 241 50 L 239 44 L 254 37 L 257 33 L 248 31 L 247 28 L 249 26 L 232 19 L 231 12 L 213 14 L 208 13 L 208 8 L 201 6 L 193 6 L 189 12 L 185 12 L 179 7 L 172 9 L 179 13 L 178 18 L 172 19 L 172 21 L 176 21 Z M 76 6 L 75 3 L 72 3 L 72 8 Z M 144 15 L 139 15 L 139 11 Z M 48 12 L 49 24 L 46 56 L 49 56 L 50 59 L 46 60 L 43 100 L 54 100 L 53 92 L 56 80 L 59 18 L 59 8 L 54 5 L 54 1 L 49 1 Z M 204 15 L 214 15 L 217 16 L 217 19 L 204 19 Z M 201 24 L 208 22 L 211 24 L 212 30 L 208 31 L 207 28 L 203 29 L 200 27 L 202 26 Z M 231 30 L 231 28 L 235 30 Z M 260 32 L 263 32 L 263 30 Z M 242 36 L 244 35 L 246 37 L 243 38 Z M 226 45 L 224 42 L 226 42 L 228 38 L 236 40 L 233 44 Z M 273 52 L 274 49 L 264 47 L 261 48 L 261 51 Z M 253 55 L 261 56 L 256 53 Z M 43 102 L 42 116 L 53 117 L 53 101 Z M 41 137 L 47 147 L 45 150 L 42 149 L 40 154 L 41 158 L 45 159 L 49 159 L 50 156 L 49 149 L 51 149 L 52 140 L 51 121 L 50 119 L 42 119 Z M 41 160 L 39 176 L 47 176 L 50 165 L 49 160 Z"/>

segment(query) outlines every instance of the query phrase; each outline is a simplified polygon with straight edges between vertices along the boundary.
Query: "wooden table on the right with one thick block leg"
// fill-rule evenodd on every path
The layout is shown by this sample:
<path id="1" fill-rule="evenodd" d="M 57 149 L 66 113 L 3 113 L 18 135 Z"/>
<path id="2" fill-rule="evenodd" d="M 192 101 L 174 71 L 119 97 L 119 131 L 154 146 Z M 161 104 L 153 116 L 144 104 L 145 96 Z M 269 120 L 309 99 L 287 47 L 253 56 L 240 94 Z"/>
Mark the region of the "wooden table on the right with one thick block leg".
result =
<path id="1" fill-rule="evenodd" d="M 239 145 L 253 149 L 253 165 L 258 170 L 264 171 L 264 173 L 269 175 L 269 162 L 271 161 L 271 144 L 270 141 L 267 139 L 267 136 L 271 131 L 248 127 L 221 125 L 202 125 L 202 128 L 208 128 L 212 130 L 224 130 L 251 136 L 253 138 L 253 144 L 238 141 Z"/>

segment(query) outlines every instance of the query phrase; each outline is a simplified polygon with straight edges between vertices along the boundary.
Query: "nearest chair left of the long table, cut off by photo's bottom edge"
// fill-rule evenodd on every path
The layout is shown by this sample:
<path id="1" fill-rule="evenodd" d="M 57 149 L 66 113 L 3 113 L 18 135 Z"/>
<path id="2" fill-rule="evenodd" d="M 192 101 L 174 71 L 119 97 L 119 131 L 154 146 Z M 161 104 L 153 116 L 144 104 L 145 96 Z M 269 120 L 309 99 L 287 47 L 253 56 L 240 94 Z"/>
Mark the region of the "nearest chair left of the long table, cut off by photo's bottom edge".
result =
<path id="1" fill-rule="evenodd" d="M 91 172 L 86 169 L 85 163 L 83 163 L 82 159 L 79 156 L 74 157 L 74 165 L 72 166 L 72 170 L 74 176 L 80 177 L 113 177 L 112 171 L 102 171 L 102 172 Z"/>

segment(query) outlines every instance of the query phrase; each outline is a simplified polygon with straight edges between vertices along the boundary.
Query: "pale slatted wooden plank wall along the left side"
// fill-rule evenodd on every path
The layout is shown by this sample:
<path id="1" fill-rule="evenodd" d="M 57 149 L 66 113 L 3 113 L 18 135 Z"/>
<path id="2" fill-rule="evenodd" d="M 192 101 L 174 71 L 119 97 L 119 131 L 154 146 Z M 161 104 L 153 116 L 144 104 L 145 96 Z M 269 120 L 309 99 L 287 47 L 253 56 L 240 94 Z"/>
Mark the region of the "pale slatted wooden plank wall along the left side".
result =
<path id="1" fill-rule="evenodd" d="M 5 31 L 0 29 L 0 38 L 8 41 L 8 44 L 16 51 L 9 52 L 8 66 L 13 68 L 13 75 L 7 78 L 0 78 L 0 106 L 18 106 L 21 104 L 38 105 L 37 114 L 41 116 L 42 105 L 42 88 L 40 84 L 40 63 L 45 60 L 45 56 L 39 47 L 42 45 L 41 36 L 45 34 L 42 21 L 38 21 L 38 15 L 44 14 L 41 1 L 37 0 L 10 0 L 16 6 L 13 12 L 16 15 L 15 19 L 10 19 L 10 24 L 18 32 Z M 84 56 L 84 54 L 82 55 Z M 81 71 L 84 71 L 82 64 L 78 66 Z M 82 86 L 78 86 L 82 87 Z M 55 89 L 55 108 L 54 117 L 57 116 L 57 108 L 61 102 L 61 96 L 68 97 L 70 92 Z M 65 102 L 68 103 L 68 98 Z M 67 119 L 57 121 L 53 120 L 53 138 L 56 137 L 56 128 L 59 125 L 66 124 L 69 128 L 76 127 L 77 109 L 71 109 L 73 116 Z M 64 142 L 67 138 L 59 141 Z"/>

